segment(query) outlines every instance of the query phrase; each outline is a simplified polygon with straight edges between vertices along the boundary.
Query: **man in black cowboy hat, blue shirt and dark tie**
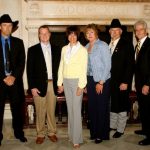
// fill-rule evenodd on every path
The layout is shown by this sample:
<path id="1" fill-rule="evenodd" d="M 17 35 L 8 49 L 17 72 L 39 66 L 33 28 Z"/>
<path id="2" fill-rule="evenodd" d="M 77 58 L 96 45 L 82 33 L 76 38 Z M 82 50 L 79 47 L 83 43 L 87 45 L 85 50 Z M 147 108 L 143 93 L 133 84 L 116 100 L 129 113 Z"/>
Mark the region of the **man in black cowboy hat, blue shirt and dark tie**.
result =
<path id="1" fill-rule="evenodd" d="M 21 142 L 27 141 L 23 132 L 22 114 L 25 50 L 23 41 L 11 36 L 17 24 L 18 21 L 13 22 L 8 14 L 0 18 L 0 144 L 3 139 L 2 126 L 6 99 L 10 102 L 14 135 Z"/>

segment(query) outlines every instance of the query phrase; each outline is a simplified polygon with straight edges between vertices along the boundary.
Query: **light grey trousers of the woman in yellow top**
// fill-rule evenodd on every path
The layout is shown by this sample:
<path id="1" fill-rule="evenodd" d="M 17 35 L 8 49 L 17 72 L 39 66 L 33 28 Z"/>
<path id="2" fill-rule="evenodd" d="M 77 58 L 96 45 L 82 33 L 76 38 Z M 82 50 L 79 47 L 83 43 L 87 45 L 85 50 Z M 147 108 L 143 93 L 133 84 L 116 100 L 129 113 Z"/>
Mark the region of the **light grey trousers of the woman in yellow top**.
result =
<path id="1" fill-rule="evenodd" d="M 68 110 L 68 135 L 73 144 L 83 143 L 81 105 L 83 95 L 77 96 L 78 79 L 64 79 Z"/>

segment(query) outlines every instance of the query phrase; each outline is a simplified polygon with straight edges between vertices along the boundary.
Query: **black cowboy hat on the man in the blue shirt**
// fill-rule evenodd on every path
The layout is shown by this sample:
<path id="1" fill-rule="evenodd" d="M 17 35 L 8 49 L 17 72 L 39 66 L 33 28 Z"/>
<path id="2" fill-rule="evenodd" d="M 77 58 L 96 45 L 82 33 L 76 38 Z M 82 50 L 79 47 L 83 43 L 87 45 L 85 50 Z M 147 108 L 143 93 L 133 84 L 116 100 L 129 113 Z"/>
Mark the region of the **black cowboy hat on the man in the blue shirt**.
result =
<path id="1" fill-rule="evenodd" d="M 2 23 L 12 23 L 13 24 L 13 29 L 17 27 L 19 21 L 12 21 L 10 16 L 8 14 L 4 14 L 0 17 L 0 24 Z"/>

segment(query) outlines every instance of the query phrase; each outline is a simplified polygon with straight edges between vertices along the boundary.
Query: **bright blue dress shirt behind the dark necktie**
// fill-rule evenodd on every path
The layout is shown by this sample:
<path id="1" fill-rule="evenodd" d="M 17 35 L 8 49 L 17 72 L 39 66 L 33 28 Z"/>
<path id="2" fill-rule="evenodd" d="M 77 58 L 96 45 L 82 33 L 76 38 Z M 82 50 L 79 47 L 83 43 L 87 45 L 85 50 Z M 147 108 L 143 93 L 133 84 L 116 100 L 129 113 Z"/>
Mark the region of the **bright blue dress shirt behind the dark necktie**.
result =
<path id="1" fill-rule="evenodd" d="M 6 72 L 6 57 L 5 57 L 5 39 L 3 36 L 1 36 L 1 41 L 2 41 L 2 48 L 3 48 L 3 58 L 4 58 L 4 68 L 5 68 L 5 74 L 9 75 L 10 73 Z M 8 44 L 10 47 L 10 37 L 7 38 L 8 39 Z"/>

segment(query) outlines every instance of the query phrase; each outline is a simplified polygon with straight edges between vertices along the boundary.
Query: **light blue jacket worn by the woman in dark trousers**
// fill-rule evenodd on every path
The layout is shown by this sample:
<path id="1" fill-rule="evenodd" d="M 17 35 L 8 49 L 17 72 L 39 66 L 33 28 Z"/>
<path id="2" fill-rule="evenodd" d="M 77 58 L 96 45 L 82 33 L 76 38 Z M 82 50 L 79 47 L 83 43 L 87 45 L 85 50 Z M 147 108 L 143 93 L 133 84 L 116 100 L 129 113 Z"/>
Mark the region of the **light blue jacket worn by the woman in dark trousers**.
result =
<path id="1" fill-rule="evenodd" d="M 88 47 L 89 43 L 86 45 L 87 49 Z M 87 75 L 93 76 L 95 82 L 105 82 L 110 78 L 110 69 L 111 53 L 109 46 L 98 39 L 94 43 L 91 53 L 88 54 Z"/>

